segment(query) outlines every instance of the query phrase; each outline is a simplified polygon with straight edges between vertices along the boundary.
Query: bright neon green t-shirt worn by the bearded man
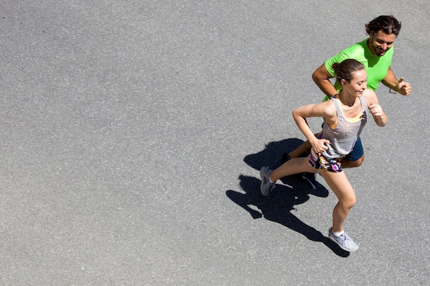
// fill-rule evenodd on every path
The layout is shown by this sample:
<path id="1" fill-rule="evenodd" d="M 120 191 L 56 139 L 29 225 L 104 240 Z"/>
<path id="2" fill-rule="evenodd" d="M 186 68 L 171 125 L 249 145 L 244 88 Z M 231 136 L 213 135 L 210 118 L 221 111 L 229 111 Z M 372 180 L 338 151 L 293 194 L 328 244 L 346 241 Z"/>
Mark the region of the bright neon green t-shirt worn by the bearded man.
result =
<path id="1" fill-rule="evenodd" d="M 394 46 L 385 52 L 383 56 L 375 56 L 367 47 L 367 39 L 352 45 L 340 51 L 336 56 L 326 60 L 326 69 L 330 75 L 335 76 L 335 71 L 332 69 L 334 62 L 342 62 L 347 58 L 353 58 L 364 64 L 367 73 L 367 88 L 376 91 L 379 83 L 385 78 L 389 66 L 393 58 Z M 341 90 L 340 82 L 335 82 L 335 88 L 339 92 Z M 328 98 L 328 97 L 326 97 Z"/>

